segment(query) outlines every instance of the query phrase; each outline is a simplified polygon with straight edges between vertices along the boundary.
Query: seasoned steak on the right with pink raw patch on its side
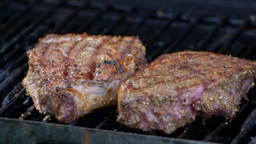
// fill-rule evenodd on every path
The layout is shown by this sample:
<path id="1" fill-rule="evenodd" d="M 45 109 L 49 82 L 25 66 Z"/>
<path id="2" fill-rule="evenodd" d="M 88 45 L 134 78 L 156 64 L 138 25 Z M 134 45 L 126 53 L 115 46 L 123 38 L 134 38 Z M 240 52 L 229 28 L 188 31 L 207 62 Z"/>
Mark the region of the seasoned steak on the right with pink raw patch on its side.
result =
<path id="1" fill-rule="evenodd" d="M 211 52 L 162 55 L 122 83 L 117 121 L 166 134 L 196 116 L 235 116 L 254 86 L 256 62 Z"/>

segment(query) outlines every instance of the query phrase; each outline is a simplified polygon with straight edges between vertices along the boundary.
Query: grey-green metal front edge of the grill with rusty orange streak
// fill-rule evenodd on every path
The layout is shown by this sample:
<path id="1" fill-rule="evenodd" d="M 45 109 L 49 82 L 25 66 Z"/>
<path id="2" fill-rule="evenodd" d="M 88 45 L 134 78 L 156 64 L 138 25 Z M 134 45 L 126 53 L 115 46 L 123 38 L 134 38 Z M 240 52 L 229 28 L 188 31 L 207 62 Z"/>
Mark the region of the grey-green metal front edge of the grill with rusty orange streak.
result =
<path id="1" fill-rule="evenodd" d="M 175 143 L 211 142 L 73 127 L 0 117 L 0 143 Z"/>

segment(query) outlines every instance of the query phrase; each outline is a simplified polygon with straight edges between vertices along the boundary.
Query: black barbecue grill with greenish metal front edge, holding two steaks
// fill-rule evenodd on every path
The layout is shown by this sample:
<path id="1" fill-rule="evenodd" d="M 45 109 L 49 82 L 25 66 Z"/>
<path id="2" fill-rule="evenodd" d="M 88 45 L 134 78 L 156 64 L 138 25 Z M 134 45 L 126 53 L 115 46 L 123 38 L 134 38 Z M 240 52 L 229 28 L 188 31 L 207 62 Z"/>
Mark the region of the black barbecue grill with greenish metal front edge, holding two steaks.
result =
<path id="1" fill-rule="evenodd" d="M 48 33 L 136 35 L 147 59 L 175 51 L 210 51 L 256 61 L 253 1 L 1 1 L 0 143 L 256 143 L 256 88 L 237 116 L 197 118 L 165 135 L 118 124 L 117 107 L 70 124 L 39 113 L 21 80 L 26 51 Z"/>

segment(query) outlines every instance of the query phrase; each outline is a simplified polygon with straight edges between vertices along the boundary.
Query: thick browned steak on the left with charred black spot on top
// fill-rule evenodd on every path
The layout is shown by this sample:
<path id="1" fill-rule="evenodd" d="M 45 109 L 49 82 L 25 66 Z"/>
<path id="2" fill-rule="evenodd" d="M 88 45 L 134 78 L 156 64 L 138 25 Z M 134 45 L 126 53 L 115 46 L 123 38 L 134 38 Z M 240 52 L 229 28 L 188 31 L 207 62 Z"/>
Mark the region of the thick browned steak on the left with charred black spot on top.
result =
<path id="1" fill-rule="evenodd" d="M 145 50 L 136 37 L 48 34 L 27 52 L 22 82 L 40 113 L 70 123 L 117 105 L 121 82 L 146 64 Z"/>

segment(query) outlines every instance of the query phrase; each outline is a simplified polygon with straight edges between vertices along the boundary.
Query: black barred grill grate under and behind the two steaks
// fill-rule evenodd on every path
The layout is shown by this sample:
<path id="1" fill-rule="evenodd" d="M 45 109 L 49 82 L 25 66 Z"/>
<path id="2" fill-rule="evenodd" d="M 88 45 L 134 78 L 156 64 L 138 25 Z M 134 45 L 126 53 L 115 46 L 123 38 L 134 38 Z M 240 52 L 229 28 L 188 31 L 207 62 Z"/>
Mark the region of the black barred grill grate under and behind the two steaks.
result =
<path id="1" fill-rule="evenodd" d="M 164 53 L 183 50 L 211 51 L 256 61 L 254 15 L 235 19 L 207 13 L 142 11 L 139 5 L 93 1 L 2 1 L 0 14 L 0 118 L 60 124 L 53 116 L 34 109 L 20 83 L 28 69 L 26 51 L 48 33 L 137 35 L 147 47 L 149 62 Z M 95 110 L 69 125 L 178 139 L 248 143 L 256 135 L 255 96 L 254 87 L 248 94 L 249 101 L 243 101 L 233 121 L 222 116 L 197 118 L 171 135 L 161 131 L 147 134 L 119 125 L 115 121 L 116 107 Z"/>

